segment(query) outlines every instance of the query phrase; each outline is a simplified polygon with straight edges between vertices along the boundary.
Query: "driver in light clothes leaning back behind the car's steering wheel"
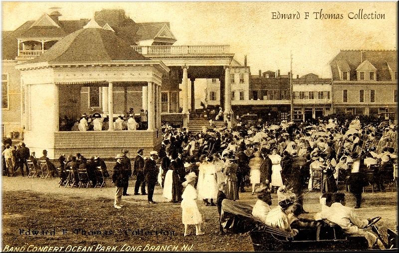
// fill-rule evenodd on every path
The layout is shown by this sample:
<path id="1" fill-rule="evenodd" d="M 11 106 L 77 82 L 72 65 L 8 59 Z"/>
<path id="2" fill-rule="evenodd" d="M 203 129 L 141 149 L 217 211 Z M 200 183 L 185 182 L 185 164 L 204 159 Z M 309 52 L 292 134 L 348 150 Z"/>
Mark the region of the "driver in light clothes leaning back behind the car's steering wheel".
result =
<path id="1" fill-rule="evenodd" d="M 370 249 L 376 245 L 380 249 L 385 249 L 383 243 L 379 241 L 374 234 L 363 230 L 371 220 L 361 220 L 357 217 L 352 208 L 345 207 L 346 200 L 344 193 L 334 193 L 332 195 L 331 203 L 332 204 L 329 208 L 318 213 L 317 217 L 315 216 L 316 220 L 327 219 L 328 221 L 339 225 L 347 235 L 365 237 L 369 242 Z M 326 204 L 327 206 L 329 205 L 328 200 L 326 201 Z"/>

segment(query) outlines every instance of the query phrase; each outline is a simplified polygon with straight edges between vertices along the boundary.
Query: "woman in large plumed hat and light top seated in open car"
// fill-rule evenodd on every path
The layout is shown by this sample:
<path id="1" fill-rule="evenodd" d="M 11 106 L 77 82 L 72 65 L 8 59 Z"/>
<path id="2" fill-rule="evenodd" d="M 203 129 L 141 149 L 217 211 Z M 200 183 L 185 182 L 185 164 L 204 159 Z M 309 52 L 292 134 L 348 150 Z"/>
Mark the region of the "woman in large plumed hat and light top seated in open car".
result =
<path id="1" fill-rule="evenodd" d="M 298 230 L 291 228 L 288 218 L 288 214 L 290 213 L 289 207 L 294 204 L 296 196 L 282 186 L 277 191 L 277 198 L 278 207 L 270 210 L 270 212 L 267 214 L 266 225 L 281 229 L 290 233 L 292 236 L 296 236 L 298 234 Z"/>

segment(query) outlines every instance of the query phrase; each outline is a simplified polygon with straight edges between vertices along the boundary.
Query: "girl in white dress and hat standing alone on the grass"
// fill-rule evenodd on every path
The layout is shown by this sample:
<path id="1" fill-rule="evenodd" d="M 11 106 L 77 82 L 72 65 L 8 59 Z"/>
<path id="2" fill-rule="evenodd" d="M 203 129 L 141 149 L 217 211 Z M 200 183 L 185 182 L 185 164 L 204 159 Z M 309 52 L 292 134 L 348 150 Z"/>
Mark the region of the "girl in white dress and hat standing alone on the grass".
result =
<path id="1" fill-rule="evenodd" d="M 196 225 L 196 235 L 200 236 L 204 233 L 201 231 L 202 215 L 197 206 L 197 190 L 194 188 L 196 182 L 196 173 L 190 172 L 186 175 L 186 181 L 183 182 L 185 190 L 182 195 L 182 222 L 184 224 L 184 236 L 190 235 L 189 225 Z"/>

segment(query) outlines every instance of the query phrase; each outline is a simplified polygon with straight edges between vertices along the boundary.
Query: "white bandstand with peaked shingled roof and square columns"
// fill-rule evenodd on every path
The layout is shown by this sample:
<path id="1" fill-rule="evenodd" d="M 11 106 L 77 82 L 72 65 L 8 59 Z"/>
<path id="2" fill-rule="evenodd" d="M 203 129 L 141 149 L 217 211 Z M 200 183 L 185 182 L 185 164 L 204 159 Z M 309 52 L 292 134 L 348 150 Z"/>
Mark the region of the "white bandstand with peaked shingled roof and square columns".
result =
<path id="1" fill-rule="evenodd" d="M 169 68 L 161 60 L 138 53 L 110 30 L 95 24 L 85 27 L 16 66 L 25 92 L 24 142 L 36 154 L 46 149 L 49 158 L 77 152 L 114 157 L 121 148 L 133 154 L 139 147 L 146 153 L 157 149 L 162 142 L 162 77 Z M 148 104 L 148 129 L 114 131 L 110 120 L 108 131 L 59 131 L 59 108 L 79 108 L 82 86 L 102 87 L 108 96 L 109 119 L 114 116 L 114 88 L 142 87 Z"/>

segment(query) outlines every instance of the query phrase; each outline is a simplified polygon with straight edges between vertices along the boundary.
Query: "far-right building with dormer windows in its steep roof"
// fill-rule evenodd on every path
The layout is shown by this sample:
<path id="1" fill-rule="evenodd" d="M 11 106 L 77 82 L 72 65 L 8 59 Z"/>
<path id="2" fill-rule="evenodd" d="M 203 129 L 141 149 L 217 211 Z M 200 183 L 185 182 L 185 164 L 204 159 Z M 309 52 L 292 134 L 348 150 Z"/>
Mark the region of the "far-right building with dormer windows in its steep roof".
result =
<path id="1" fill-rule="evenodd" d="M 397 50 L 341 50 L 330 62 L 333 113 L 394 119 Z"/>

